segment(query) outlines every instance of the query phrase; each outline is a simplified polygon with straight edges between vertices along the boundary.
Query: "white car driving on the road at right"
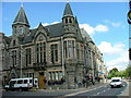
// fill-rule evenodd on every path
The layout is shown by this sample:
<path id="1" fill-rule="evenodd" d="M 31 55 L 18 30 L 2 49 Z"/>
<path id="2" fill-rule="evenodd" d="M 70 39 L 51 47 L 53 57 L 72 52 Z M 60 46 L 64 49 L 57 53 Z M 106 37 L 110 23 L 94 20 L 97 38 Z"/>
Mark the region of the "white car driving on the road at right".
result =
<path id="1" fill-rule="evenodd" d="M 122 87 L 122 79 L 121 77 L 112 77 L 110 82 L 110 87 Z"/>

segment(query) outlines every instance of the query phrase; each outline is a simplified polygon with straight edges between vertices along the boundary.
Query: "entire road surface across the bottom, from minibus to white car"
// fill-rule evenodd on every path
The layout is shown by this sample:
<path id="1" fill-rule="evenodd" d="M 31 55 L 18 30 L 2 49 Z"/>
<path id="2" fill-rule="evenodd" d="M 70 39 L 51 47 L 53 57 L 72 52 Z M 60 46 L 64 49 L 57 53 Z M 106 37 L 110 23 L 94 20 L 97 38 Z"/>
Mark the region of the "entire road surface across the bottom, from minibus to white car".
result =
<path id="1" fill-rule="evenodd" d="M 118 98 L 117 96 L 120 95 L 127 87 L 127 83 L 123 83 L 123 87 L 120 88 L 110 88 L 107 84 L 99 84 L 92 86 L 90 88 L 81 88 L 81 89 L 66 89 L 66 90 L 36 90 L 36 91 L 3 91 L 3 98 L 7 96 L 51 96 L 51 97 L 66 97 L 72 98 L 72 96 L 86 96 L 86 98 L 94 98 L 96 96 L 103 96 L 104 98 L 107 96 L 114 96 L 111 98 Z M 44 98 L 45 98 L 44 97 Z M 10 98 L 10 97 L 8 97 Z"/>

